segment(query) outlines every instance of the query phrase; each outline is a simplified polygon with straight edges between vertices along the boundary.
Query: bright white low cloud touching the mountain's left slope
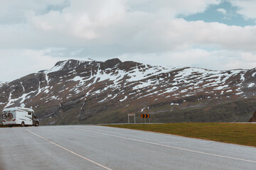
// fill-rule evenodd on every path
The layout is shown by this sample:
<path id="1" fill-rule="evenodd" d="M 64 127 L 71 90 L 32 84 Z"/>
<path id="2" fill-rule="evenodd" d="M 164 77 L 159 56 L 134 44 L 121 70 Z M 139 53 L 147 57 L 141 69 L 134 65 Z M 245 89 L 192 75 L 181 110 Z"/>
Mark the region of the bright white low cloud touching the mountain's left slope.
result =
<path id="1" fill-rule="evenodd" d="M 41 69 L 50 69 L 55 62 L 65 60 L 65 58 L 45 55 L 46 52 L 50 50 L 0 50 L 0 81 L 12 81 Z"/>

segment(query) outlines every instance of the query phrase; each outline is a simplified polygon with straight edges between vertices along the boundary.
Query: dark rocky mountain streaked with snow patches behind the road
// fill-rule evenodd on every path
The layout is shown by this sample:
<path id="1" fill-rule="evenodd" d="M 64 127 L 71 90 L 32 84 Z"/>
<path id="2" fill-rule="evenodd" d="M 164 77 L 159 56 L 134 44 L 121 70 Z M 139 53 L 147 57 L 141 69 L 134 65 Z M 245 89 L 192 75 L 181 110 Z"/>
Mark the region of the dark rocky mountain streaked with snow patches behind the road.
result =
<path id="1" fill-rule="evenodd" d="M 151 113 L 153 122 L 247 121 L 256 110 L 255 76 L 256 69 L 67 60 L 0 83 L 0 110 L 32 107 L 47 125 L 127 123 L 127 113 Z"/>

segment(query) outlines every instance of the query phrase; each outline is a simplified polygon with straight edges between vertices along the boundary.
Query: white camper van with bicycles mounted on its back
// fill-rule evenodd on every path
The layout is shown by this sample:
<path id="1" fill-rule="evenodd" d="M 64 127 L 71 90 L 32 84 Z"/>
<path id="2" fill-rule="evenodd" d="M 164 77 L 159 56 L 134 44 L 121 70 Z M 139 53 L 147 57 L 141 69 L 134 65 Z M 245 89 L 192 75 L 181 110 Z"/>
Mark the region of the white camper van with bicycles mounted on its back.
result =
<path id="1" fill-rule="evenodd" d="M 3 125 L 39 125 L 39 120 L 31 108 L 4 108 Z"/>

